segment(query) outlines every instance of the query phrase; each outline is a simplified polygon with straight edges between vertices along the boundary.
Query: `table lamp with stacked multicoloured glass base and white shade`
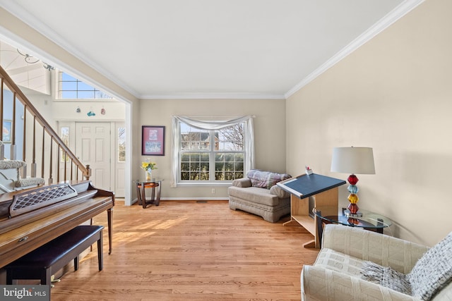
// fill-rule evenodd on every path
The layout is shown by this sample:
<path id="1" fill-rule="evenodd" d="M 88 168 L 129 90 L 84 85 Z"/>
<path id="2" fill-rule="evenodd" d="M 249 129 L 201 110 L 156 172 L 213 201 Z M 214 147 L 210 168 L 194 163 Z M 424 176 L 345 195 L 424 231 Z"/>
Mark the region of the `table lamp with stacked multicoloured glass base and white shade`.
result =
<path id="1" fill-rule="evenodd" d="M 331 159 L 331 171 L 335 173 L 351 173 L 347 178 L 347 190 L 350 192 L 348 200 L 350 204 L 346 212 L 347 216 L 361 216 L 358 210 L 357 196 L 358 182 L 357 174 L 375 174 L 374 152 L 371 147 L 335 147 L 333 149 L 333 158 Z"/>

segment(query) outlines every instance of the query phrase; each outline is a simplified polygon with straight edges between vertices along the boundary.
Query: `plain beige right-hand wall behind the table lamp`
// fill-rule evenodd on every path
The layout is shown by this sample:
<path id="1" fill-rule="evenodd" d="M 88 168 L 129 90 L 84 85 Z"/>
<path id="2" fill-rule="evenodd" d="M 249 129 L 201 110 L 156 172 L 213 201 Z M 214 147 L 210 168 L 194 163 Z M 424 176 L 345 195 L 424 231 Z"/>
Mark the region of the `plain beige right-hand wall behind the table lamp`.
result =
<path id="1" fill-rule="evenodd" d="M 331 173 L 333 147 L 374 148 L 359 207 L 388 234 L 433 245 L 452 231 L 452 2 L 429 0 L 287 99 L 287 171 Z M 347 205 L 347 185 L 340 204 Z"/>

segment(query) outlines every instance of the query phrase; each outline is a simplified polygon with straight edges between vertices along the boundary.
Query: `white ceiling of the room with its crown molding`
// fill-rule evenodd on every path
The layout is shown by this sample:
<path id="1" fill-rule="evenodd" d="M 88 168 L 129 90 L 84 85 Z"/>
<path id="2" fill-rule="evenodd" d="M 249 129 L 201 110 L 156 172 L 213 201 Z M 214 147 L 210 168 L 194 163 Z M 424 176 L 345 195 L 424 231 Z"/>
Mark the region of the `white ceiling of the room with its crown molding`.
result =
<path id="1" fill-rule="evenodd" d="M 420 2 L 0 0 L 0 6 L 138 98 L 285 98 Z"/>

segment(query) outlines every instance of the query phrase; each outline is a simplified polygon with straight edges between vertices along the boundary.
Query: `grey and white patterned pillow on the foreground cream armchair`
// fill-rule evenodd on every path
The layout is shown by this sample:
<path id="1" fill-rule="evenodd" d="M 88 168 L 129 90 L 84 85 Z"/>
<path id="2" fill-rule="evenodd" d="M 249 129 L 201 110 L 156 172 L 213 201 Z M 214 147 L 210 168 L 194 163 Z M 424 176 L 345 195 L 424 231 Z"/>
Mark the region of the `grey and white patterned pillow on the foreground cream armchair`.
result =
<path id="1" fill-rule="evenodd" d="M 407 275 L 412 295 L 429 300 L 452 280 L 452 232 L 428 250 Z"/>

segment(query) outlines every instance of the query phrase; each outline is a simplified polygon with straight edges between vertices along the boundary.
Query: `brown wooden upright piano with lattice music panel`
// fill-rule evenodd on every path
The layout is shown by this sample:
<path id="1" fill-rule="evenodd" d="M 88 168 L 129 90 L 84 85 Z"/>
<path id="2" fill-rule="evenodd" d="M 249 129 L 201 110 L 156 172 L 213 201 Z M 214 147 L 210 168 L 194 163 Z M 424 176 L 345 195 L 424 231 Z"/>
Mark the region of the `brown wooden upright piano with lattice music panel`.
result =
<path id="1" fill-rule="evenodd" d="M 0 268 L 107 211 L 112 252 L 114 193 L 89 180 L 0 195 Z"/>

